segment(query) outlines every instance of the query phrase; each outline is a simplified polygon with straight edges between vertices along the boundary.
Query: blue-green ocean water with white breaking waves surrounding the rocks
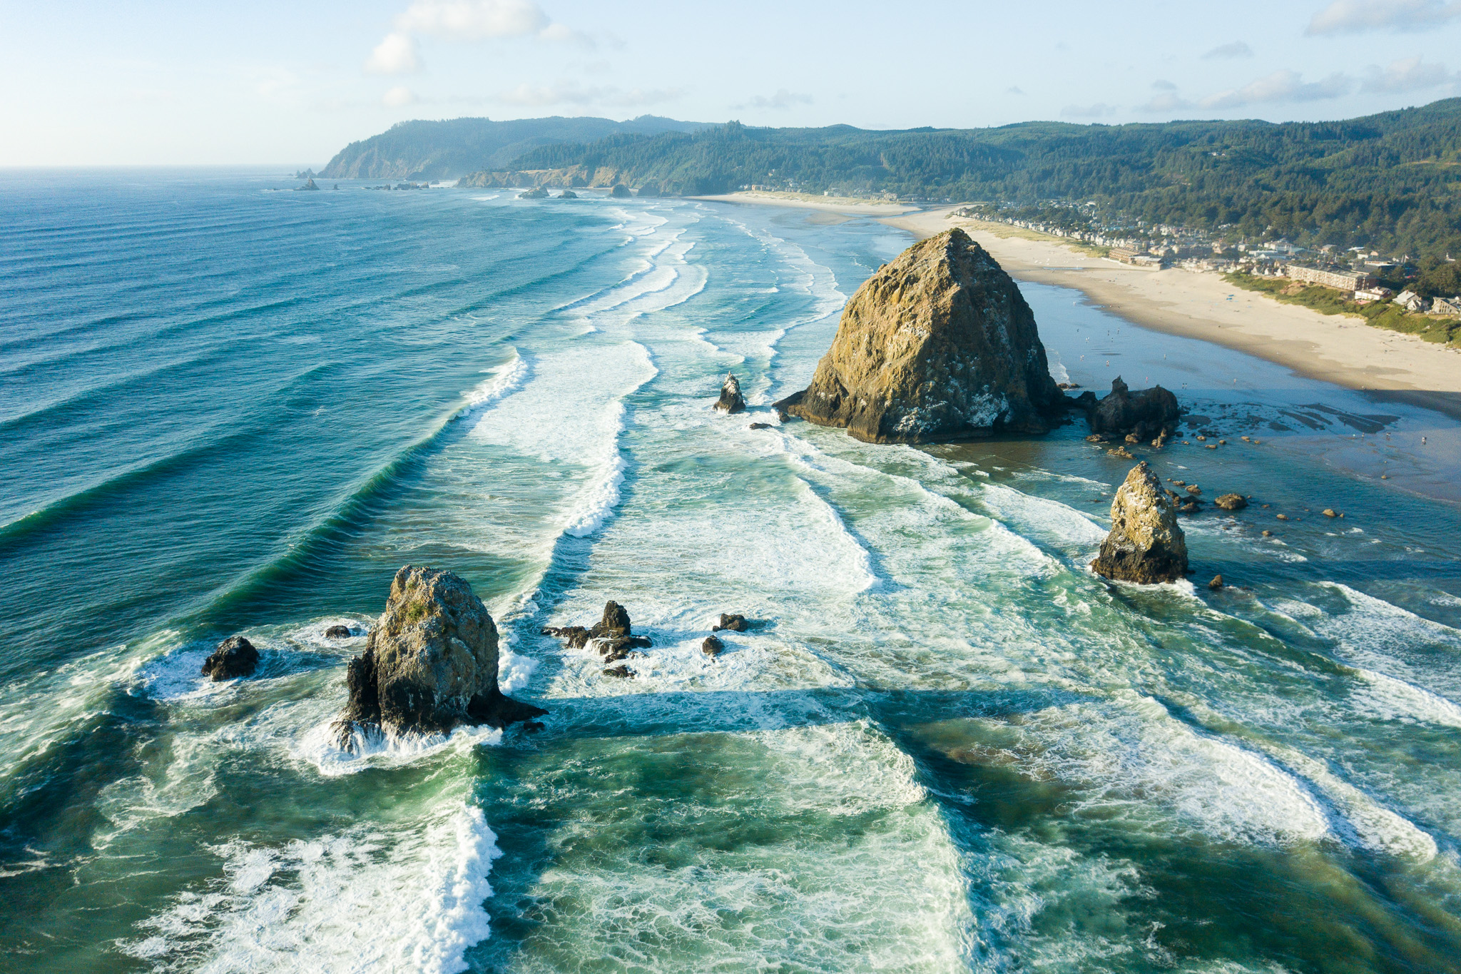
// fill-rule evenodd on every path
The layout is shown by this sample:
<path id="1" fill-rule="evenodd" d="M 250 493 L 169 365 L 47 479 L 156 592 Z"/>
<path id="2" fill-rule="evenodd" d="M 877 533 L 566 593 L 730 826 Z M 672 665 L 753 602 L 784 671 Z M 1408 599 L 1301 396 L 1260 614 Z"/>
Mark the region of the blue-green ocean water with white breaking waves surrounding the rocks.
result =
<path id="1" fill-rule="evenodd" d="M 291 185 L 0 175 L 0 968 L 1461 971 L 1455 422 L 1027 285 L 1254 496 L 1112 586 L 1081 423 L 776 422 L 899 231 Z M 330 745 L 402 564 L 541 732 Z M 606 599 L 633 679 L 539 635 Z"/>

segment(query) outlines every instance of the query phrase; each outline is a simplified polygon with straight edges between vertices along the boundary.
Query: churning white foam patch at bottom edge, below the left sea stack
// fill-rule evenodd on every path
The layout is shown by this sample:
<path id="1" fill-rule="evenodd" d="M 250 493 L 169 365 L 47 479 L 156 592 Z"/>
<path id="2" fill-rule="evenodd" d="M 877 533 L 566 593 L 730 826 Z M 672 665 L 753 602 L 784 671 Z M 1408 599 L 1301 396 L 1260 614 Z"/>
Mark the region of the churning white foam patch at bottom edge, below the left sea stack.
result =
<path id="1" fill-rule="evenodd" d="M 222 971 L 457 974 L 489 933 L 501 853 L 481 809 L 447 800 L 403 827 L 215 850 L 222 876 L 139 924 L 139 959 Z"/>

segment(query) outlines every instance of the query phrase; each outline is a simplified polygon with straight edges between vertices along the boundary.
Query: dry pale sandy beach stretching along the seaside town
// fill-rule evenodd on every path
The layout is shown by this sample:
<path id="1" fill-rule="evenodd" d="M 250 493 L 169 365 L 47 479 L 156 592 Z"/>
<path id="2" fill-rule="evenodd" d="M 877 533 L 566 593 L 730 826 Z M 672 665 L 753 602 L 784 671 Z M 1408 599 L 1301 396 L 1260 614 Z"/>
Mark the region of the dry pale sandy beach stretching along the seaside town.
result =
<path id="1" fill-rule="evenodd" d="M 1140 270 L 1002 223 L 950 219 L 953 207 L 884 219 L 920 239 L 963 226 L 1020 280 L 1075 288 L 1134 324 L 1213 342 L 1300 375 L 1398 399 L 1461 419 L 1461 352 L 1362 318 L 1273 301 L 1189 270 Z"/>

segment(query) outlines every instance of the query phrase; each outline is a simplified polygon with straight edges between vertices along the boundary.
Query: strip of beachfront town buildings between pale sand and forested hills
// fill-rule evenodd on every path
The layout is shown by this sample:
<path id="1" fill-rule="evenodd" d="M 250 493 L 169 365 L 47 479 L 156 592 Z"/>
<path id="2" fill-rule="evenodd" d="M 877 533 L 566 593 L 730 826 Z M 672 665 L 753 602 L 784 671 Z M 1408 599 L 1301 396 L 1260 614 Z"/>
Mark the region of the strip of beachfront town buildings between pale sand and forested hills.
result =
<path id="1" fill-rule="evenodd" d="M 1090 204 L 1088 204 L 1090 206 Z M 1017 204 L 972 204 L 951 216 L 1007 223 L 1103 248 L 1109 260 L 1161 270 L 1287 277 L 1346 292 L 1356 304 L 1389 301 L 1413 314 L 1461 317 L 1461 296 L 1423 296 L 1407 286 L 1419 273 L 1410 256 L 1382 256 L 1365 247 L 1299 247 L 1289 239 L 1223 239 L 1188 226 L 1131 221 L 1100 225 L 1084 207 L 1059 206 L 1053 216 L 1031 215 Z M 1224 228 L 1218 228 L 1220 231 Z"/>

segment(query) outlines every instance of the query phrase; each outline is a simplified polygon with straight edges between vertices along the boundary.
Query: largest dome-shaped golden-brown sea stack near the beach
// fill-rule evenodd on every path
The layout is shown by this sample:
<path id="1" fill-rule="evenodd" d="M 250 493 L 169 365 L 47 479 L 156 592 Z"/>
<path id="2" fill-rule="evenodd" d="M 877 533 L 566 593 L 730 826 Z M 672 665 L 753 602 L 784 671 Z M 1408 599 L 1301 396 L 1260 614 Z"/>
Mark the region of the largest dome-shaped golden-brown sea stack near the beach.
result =
<path id="1" fill-rule="evenodd" d="M 868 442 L 932 442 L 1048 432 L 1065 394 L 1014 280 L 951 229 L 858 288 L 812 384 L 776 406 Z"/>

